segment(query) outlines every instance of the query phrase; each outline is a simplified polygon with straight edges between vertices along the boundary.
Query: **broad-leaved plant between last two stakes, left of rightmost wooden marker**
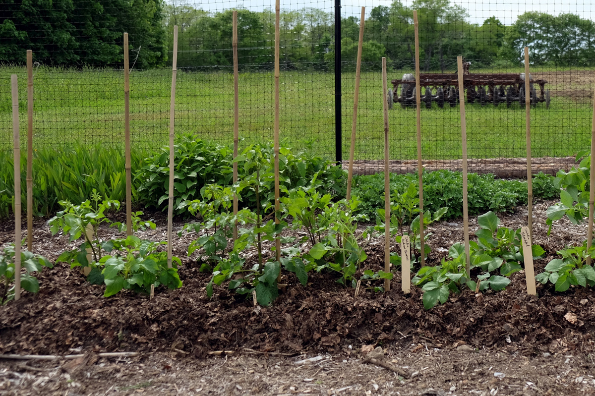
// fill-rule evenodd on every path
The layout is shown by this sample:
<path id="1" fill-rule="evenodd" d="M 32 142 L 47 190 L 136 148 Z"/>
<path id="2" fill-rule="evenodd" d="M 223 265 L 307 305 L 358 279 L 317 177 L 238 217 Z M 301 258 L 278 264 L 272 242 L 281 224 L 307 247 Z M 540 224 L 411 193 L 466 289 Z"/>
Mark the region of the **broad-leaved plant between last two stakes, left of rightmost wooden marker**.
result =
<path id="1" fill-rule="evenodd" d="M 500 219 L 491 211 L 478 216 L 477 224 L 480 226 L 480 230 L 475 232 L 477 242 L 469 242 L 471 265 L 487 272 L 499 269 L 500 274 L 505 276 L 521 271 L 519 263 L 524 262 L 521 230 L 499 227 Z M 541 246 L 531 246 L 534 258 L 544 253 Z"/>

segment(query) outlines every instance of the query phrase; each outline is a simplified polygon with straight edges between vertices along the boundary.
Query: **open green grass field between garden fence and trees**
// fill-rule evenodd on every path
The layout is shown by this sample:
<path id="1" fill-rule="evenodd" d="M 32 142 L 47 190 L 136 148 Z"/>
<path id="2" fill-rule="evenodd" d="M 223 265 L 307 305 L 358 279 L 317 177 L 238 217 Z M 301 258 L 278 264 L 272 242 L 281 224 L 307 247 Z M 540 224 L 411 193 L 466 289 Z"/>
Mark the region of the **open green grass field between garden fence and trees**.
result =
<path id="1" fill-rule="evenodd" d="M 508 70 L 511 71 L 511 70 Z M 12 149 L 10 74 L 19 76 L 21 135 L 26 134 L 26 71 L 0 69 L 0 150 Z M 568 156 L 587 149 L 591 130 L 592 71 L 543 70 L 552 104 L 531 109 L 534 156 Z M 393 71 L 389 79 L 400 78 Z M 380 72 L 362 73 L 356 159 L 383 158 Z M 73 140 L 120 145 L 124 137 L 123 72 L 35 72 L 35 145 Z M 355 73 L 343 74 L 343 158 L 349 155 Z M 240 74 L 240 137 L 262 142 L 273 137 L 272 73 Z M 317 140 L 321 155 L 334 158 L 334 75 L 309 71 L 281 73 L 281 140 L 290 147 Z M 171 70 L 133 70 L 130 75 L 131 136 L 140 147 L 167 143 Z M 461 156 L 458 106 L 422 109 L 424 159 Z M 525 111 L 518 105 L 467 106 L 468 147 L 472 158 L 525 155 Z M 233 137 L 233 74 L 180 70 L 177 75 L 176 132 L 192 131 L 203 139 L 231 143 Z M 390 111 L 390 156 L 416 156 L 415 109 Z M 24 142 L 24 139 L 21 140 Z"/>

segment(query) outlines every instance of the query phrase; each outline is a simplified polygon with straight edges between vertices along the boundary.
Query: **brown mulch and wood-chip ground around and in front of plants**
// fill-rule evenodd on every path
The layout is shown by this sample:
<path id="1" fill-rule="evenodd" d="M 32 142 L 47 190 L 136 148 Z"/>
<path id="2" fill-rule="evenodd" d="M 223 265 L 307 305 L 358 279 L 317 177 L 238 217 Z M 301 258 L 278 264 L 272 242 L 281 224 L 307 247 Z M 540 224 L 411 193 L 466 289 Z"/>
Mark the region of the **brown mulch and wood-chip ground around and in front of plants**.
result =
<path id="1" fill-rule="evenodd" d="M 549 205 L 534 206 L 534 243 L 547 251 L 536 262 L 537 274 L 556 250 L 585 236 L 584 227 L 561 221 L 547 237 Z M 158 229 L 139 236 L 164 240 L 164 218 L 152 216 Z M 526 216 L 525 208 L 517 208 L 500 219 L 503 226 L 520 227 Z M 477 230 L 475 220 L 470 227 Z M 74 246 L 63 236 L 52 237 L 43 221 L 35 228 L 35 250 L 48 259 Z M 461 222 L 442 222 L 429 231 L 430 264 L 463 239 Z M 101 230 L 101 235 L 114 232 Z M 399 272 L 389 292 L 364 290 L 358 297 L 330 274 L 312 275 L 305 288 L 293 274 L 284 274 L 287 287 L 274 305 L 254 307 L 223 287 L 206 297 L 209 275 L 199 272 L 195 257 L 186 257 L 192 237 L 174 238 L 174 254 L 183 258 L 183 288 L 158 289 L 152 300 L 129 292 L 104 298 L 103 288 L 88 284 L 78 271 L 64 265 L 45 270 L 38 294 L 24 293 L 20 301 L 0 307 L 0 353 L 86 356 L 0 360 L 0 393 L 595 394 L 591 290 L 556 293 L 538 285 L 538 297 L 527 296 L 524 272 L 518 272 L 505 291 L 464 291 L 428 312 L 417 288 L 408 296 L 401 293 Z M 0 245 L 13 238 L 10 224 L 0 226 Z M 365 249 L 365 268 L 380 268 L 383 241 L 370 240 Z M 383 361 L 405 369 L 409 378 L 365 363 L 359 353 L 364 345 L 383 347 Z M 141 356 L 96 356 L 111 351 Z M 216 356 L 218 351 L 231 352 Z M 317 356 L 316 362 L 295 364 Z M 428 388 L 436 392 L 423 393 Z"/>

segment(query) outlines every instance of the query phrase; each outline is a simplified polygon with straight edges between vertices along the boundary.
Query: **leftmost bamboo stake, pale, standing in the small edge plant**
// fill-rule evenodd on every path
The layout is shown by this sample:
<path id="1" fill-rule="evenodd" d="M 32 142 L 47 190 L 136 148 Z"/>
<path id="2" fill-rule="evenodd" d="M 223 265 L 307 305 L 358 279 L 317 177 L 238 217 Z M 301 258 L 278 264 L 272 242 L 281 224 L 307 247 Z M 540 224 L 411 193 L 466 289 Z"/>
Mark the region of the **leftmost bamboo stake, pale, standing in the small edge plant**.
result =
<path id="1" fill-rule="evenodd" d="M 18 136 L 18 83 L 11 76 L 12 133 L 14 137 L 14 300 L 21 298 L 21 146 Z"/>

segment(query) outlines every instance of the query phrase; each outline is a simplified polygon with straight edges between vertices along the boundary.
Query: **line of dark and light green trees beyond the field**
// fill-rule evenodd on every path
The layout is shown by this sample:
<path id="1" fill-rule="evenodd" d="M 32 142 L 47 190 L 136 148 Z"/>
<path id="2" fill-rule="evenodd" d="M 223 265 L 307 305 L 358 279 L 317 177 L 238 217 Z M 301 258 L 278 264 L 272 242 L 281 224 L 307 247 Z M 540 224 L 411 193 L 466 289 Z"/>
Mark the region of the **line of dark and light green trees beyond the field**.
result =
<path id="1" fill-rule="evenodd" d="M 534 65 L 587 65 L 595 56 L 595 23 L 574 14 L 525 12 L 511 26 L 495 17 L 469 23 L 468 12 L 449 0 L 399 0 L 372 8 L 365 24 L 362 69 L 377 69 L 381 56 L 393 68 L 412 67 L 413 11 L 418 10 L 424 70 L 452 70 L 456 56 L 475 66 L 518 65 L 529 46 Z M 36 61 L 67 66 L 115 66 L 123 62 L 122 33 L 129 32 L 136 67 L 164 66 L 179 26 L 180 67 L 227 67 L 232 11 L 209 12 L 162 0 L 4 0 L 0 4 L 0 63 Z M 275 15 L 238 10 L 240 67 L 271 68 Z M 334 15 L 317 8 L 282 11 L 280 61 L 284 68 L 334 67 Z M 341 21 L 344 70 L 355 68 L 359 18 Z"/>

